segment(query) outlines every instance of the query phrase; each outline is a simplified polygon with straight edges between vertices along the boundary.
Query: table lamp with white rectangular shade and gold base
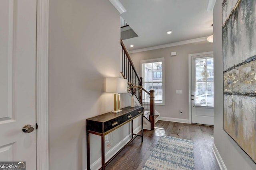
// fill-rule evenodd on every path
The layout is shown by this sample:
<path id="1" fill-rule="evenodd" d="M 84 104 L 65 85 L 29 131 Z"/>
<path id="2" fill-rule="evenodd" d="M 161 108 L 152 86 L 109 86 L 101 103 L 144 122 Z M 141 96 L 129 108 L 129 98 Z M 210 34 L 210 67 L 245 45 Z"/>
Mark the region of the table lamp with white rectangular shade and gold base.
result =
<path id="1" fill-rule="evenodd" d="M 106 78 L 106 92 L 115 93 L 114 94 L 114 110 L 112 113 L 118 113 L 120 110 L 120 94 L 127 93 L 127 79 L 123 78 Z"/>

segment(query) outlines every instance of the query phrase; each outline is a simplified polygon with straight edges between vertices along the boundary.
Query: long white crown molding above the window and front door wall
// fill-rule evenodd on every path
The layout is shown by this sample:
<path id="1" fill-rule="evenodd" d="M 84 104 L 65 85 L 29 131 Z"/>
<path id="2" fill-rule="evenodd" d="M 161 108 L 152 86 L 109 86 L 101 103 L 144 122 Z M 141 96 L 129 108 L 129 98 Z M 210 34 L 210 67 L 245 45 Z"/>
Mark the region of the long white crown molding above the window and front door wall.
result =
<path id="1" fill-rule="evenodd" d="M 207 39 L 207 37 L 189 39 L 189 40 L 185 40 L 185 41 L 179 41 L 176 43 L 169 43 L 169 44 L 157 45 L 157 46 L 153 46 L 153 47 L 147 47 L 147 48 L 143 48 L 143 49 L 131 50 L 128 53 L 132 54 L 132 53 L 138 53 L 138 52 L 142 52 L 142 51 L 150 51 L 150 50 L 162 49 L 162 48 L 166 48 L 166 47 L 174 47 L 174 46 L 178 46 L 178 45 L 198 43 L 198 42 L 206 41 L 206 39 Z"/>

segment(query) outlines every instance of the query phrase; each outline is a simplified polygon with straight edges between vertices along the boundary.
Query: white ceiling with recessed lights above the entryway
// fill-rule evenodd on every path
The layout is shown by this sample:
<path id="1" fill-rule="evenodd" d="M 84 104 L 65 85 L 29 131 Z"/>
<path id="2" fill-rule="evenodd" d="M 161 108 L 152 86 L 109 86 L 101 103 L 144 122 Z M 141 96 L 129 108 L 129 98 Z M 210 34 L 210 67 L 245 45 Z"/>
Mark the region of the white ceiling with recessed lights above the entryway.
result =
<path id="1" fill-rule="evenodd" d="M 212 33 L 208 0 L 120 0 L 121 16 L 138 34 L 124 40 L 129 51 L 175 43 Z M 172 30 L 171 34 L 166 31 Z M 134 45 L 134 47 L 130 47 Z"/>

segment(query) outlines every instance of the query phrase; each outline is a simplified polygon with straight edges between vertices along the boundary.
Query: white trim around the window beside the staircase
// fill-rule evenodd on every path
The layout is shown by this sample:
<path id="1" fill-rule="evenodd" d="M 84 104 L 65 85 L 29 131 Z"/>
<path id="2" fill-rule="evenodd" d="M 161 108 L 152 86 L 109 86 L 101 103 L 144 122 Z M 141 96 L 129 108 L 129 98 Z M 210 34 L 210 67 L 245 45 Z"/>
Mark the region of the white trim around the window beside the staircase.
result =
<path id="1" fill-rule="evenodd" d="M 141 60 L 140 61 L 140 75 L 142 75 L 143 77 L 143 68 L 142 68 L 142 64 L 144 63 L 154 63 L 154 62 L 162 62 L 162 103 L 155 103 L 155 105 L 165 105 L 165 69 L 164 69 L 164 57 L 162 58 L 156 58 L 156 59 L 148 59 L 148 60 Z M 156 78 L 157 79 L 157 78 Z M 142 84 L 144 84 L 144 80 L 142 79 Z"/>

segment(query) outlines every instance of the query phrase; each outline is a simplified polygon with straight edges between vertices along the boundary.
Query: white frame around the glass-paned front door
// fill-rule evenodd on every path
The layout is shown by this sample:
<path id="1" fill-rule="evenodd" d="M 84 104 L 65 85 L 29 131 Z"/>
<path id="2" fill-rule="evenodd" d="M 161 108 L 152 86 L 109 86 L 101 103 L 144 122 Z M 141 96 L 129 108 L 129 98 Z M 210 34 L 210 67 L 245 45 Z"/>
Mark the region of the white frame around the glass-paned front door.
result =
<path id="1" fill-rule="evenodd" d="M 188 55 L 188 123 L 191 124 L 191 116 L 192 116 L 192 109 L 191 109 L 191 62 L 192 62 L 192 57 L 194 56 L 198 56 L 198 55 L 208 55 L 208 54 L 212 54 L 213 51 L 209 51 L 209 52 L 204 52 L 204 53 L 195 53 L 195 54 L 189 54 Z"/>

